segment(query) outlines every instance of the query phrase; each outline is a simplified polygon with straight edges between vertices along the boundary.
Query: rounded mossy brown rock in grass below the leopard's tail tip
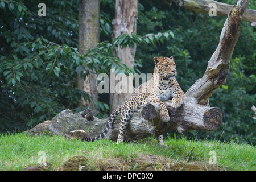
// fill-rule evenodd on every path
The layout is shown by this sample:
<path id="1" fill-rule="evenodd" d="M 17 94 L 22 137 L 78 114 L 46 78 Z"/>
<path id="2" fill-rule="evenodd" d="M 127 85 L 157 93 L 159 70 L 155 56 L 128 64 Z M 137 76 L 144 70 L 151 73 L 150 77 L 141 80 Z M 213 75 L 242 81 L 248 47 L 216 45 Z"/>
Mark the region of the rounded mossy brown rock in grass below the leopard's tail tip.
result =
<path id="1" fill-rule="evenodd" d="M 77 155 L 64 162 L 61 171 L 89 171 L 88 159 L 85 156 Z"/>

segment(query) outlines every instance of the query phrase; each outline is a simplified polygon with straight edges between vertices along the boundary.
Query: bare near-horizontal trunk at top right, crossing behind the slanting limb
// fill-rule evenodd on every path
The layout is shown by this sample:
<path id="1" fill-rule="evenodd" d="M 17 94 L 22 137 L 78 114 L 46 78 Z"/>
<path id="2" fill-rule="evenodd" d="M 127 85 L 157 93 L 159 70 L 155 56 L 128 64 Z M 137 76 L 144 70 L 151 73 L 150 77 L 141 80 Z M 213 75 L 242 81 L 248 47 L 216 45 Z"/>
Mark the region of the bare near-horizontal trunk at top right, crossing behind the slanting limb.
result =
<path id="1" fill-rule="evenodd" d="M 209 6 L 210 3 L 216 5 L 217 16 L 228 16 L 229 12 L 233 9 L 233 5 L 217 2 L 213 0 L 164 0 L 168 5 L 172 3 L 183 7 L 187 10 L 195 11 L 196 13 L 209 13 L 213 6 Z M 256 10 L 246 9 L 243 15 L 243 20 L 251 22 L 251 26 L 256 26 Z"/>

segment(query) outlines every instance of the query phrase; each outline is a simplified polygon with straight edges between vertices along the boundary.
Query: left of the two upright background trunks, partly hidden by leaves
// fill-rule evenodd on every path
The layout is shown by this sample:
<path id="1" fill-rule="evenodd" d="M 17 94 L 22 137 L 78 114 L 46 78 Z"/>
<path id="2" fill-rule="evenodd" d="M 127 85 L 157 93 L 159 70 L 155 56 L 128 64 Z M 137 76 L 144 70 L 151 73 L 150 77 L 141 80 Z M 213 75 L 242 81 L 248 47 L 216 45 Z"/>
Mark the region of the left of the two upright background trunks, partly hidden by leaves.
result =
<path id="1" fill-rule="evenodd" d="M 100 0 L 80 0 L 79 1 L 79 53 L 84 54 L 86 50 L 96 46 L 100 39 L 99 24 Z M 88 68 L 86 68 L 88 69 Z M 89 74 L 85 80 L 77 76 L 77 87 L 88 93 L 97 100 L 97 75 Z M 81 98 L 81 106 L 93 108 L 93 102 L 88 103 Z"/>

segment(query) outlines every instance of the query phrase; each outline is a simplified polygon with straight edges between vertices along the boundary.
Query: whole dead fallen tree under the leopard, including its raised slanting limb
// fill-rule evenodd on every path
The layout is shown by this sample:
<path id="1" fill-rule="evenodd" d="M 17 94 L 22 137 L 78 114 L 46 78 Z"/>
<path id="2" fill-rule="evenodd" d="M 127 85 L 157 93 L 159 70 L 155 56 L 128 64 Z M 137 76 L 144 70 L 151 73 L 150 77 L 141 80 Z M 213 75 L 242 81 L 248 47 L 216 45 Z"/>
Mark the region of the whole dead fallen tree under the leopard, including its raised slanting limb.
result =
<path id="1" fill-rule="evenodd" d="M 177 130 L 181 134 L 190 130 L 212 131 L 221 125 L 221 110 L 210 107 L 208 98 L 212 96 L 214 90 L 226 82 L 230 57 L 240 35 L 242 15 L 247 4 L 248 1 L 240 0 L 237 6 L 230 11 L 220 35 L 220 43 L 208 62 L 204 76 L 184 94 L 183 105 L 174 109 L 172 101 L 164 101 L 169 111 L 170 121 L 162 122 L 159 119 L 159 111 L 150 104 L 146 105 L 142 111 L 135 112 L 131 117 L 125 140 L 162 135 L 173 130 Z M 88 111 L 73 114 L 71 110 L 64 110 L 56 115 L 51 122 L 44 123 L 42 129 L 54 134 L 71 134 L 71 131 L 81 129 L 84 130 L 81 133 L 82 137 L 93 137 L 101 133 L 107 121 L 108 118 L 98 119 Z M 117 139 L 118 131 L 119 116 L 115 118 L 105 138 Z M 38 133 L 38 129 L 35 127 L 27 132 Z"/>

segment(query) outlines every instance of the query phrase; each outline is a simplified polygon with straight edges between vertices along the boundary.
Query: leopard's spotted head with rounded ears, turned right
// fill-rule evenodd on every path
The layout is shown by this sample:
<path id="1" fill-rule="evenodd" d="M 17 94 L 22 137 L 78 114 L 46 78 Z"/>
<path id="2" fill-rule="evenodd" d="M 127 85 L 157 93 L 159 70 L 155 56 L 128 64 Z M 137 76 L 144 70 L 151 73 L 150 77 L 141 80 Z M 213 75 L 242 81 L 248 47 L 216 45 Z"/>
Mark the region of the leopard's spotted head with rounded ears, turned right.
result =
<path id="1" fill-rule="evenodd" d="M 170 80 L 177 75 L 174 57 L 154 57 L 154 73 L 158 73 L 163 80 Z"/>

